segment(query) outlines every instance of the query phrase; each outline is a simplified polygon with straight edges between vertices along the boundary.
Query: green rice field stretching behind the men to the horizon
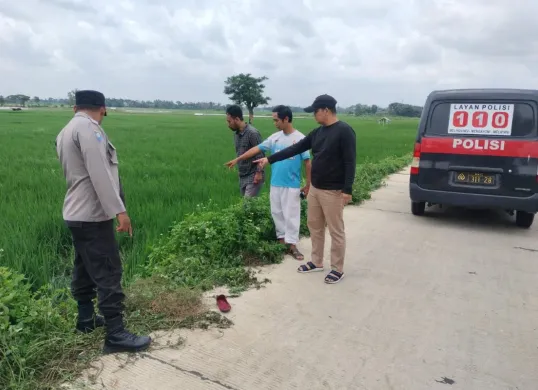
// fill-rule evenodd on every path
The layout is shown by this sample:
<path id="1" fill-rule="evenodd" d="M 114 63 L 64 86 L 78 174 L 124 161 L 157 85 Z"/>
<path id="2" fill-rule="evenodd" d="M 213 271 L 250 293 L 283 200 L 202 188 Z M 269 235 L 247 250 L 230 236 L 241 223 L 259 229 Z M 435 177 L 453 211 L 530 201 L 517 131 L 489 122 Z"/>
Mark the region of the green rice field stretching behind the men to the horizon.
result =
<path id="1" fill-rule="evenodd" d="M 70 279 L 73 255 L 61 214 L 66 186 L 54 140 L 71 116 L 59 109 L 0 111 L 0 266 L 37 286 L 64 287 Z M 317 124 L 301 116 L 295 127 L 307 134 Z M 412 151 L 416 119 L 393 118 L 387 126 L 375 118 L 340 119 L 357 133 L 358 164 Z M 275 131 L 270 117 L 253 124 L 263 136 Z M 109 111 L 103 127 L 118 150 L 134 227 L 132 239 L 120 238 L 127 278 L 145 264 L 155 240 L 197 205 L 211 201 L 218 209 L 239 200 L 237 173 L 224 167 L 235 157 L 224 115 Z"/>

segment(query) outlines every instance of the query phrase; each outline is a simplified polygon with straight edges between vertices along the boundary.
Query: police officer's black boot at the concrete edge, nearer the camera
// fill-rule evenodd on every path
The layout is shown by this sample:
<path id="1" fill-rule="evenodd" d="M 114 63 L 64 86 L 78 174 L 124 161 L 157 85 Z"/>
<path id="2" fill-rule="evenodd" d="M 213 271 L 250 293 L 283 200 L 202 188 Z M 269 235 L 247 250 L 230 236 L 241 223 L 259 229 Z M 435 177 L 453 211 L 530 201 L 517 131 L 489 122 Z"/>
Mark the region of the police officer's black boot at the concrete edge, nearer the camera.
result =
<path id="1" fill-rule="evenodd" d="M 123 326 L 121 315 L 106 320 L 106 338 L 104 353 L 140 352 L 149 347 L 149 336 L 136 336 L 129 333 Z"/>

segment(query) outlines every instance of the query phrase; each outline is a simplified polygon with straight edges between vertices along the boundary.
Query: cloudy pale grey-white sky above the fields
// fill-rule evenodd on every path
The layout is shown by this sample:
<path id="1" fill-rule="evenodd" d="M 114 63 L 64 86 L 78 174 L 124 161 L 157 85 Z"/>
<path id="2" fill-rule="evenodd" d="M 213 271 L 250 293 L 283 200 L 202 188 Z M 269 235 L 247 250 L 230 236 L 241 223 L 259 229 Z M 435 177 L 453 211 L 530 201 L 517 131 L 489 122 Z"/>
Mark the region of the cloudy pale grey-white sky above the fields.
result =
<path id="1" fill-rule="evenodd" d="M 423 105 L 446 88 L 536 88 L 535 0 L 0 0 L 0 95 Z"/>

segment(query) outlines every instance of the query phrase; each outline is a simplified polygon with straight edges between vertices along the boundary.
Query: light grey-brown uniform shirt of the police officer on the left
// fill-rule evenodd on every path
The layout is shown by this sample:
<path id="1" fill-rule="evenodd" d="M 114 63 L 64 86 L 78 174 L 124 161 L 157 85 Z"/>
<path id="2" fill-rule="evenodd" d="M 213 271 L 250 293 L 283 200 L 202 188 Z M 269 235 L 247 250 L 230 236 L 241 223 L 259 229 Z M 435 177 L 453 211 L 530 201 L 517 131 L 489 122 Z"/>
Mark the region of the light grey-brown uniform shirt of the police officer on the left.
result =
<path id="1" fill-rule="evenodd" d="M 125 211 L 116 149 L 98 122 L 76 113 L 56 138 L 67 181 L 65 221 L 102 222 Z"/>

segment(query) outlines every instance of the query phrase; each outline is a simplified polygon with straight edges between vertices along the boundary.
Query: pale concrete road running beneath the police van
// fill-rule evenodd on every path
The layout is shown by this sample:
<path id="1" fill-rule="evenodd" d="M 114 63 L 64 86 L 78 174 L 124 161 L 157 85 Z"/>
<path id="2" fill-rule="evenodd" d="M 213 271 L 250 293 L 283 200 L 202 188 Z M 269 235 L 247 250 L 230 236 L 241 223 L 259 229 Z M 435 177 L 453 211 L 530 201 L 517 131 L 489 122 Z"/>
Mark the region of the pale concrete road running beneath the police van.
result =
<path id="1" fill-rule="evenodd" d="M 163 347 L 131 361 L 102 358 L 90 388 L 538 389 L 538 222 L 415 217 L 408 180 L 406 169 L 346 208 L 341 283 L 298 274 L 287 258 L 263 271 L 267 288 L 230 300 L 232 328 L 179 331 L 179 349 L 165 346 L 177 335 L 161 335 Z M 309 240 L 300 248 L 308 256 Z"/>

